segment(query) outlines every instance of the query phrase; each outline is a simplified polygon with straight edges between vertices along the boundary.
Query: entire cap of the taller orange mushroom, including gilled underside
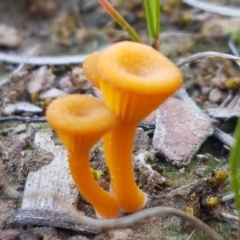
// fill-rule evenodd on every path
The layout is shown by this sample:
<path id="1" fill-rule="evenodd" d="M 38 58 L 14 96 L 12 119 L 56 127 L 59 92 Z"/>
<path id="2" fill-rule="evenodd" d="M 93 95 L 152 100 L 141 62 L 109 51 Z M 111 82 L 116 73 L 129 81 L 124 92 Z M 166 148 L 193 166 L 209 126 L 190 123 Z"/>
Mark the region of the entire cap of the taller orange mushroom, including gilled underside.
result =
<path id="1" fill-rule="evenodd" d="M 145 44 L 119 42 L 86 61 L 89 79 L 124 123 L 138 123 L 182 85 L 180 70 Z"/>

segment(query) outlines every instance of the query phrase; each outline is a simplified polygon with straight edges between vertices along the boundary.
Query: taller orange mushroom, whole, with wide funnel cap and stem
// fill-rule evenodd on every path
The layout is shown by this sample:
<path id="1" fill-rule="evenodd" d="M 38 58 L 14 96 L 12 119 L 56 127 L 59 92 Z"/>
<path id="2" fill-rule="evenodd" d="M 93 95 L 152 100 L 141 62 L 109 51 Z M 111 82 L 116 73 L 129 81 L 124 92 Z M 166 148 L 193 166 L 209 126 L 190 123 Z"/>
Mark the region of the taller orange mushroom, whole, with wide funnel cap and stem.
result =
<path id="1" fill-rule="evenodd" d="M 138 211 L 147 199 L 136 185 L 132 167 L 135 130 L 141 119 L 180 88 L 181 73 L 160 52 L 128 41 L 90 55 L 83 70 L 120 118 L 121 123 L 104 135 L 105 156 L 120 206 L 126 212 Z"/>

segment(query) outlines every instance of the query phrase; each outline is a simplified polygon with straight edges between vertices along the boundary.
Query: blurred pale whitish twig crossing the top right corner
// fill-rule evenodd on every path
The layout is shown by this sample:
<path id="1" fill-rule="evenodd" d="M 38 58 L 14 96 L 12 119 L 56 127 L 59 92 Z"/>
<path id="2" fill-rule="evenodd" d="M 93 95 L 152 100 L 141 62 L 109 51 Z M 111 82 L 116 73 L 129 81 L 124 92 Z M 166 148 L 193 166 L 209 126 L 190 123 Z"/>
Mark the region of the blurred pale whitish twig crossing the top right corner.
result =
<path id="1" fill-rule="evenodd" d="M 240 18 L 240 10 L 238 8 L 216 5 L 208 2 L 200 2 L 198 0 L 182 0 L 182 2 L 207 12 L 217 13 L 228 17 Z"/>

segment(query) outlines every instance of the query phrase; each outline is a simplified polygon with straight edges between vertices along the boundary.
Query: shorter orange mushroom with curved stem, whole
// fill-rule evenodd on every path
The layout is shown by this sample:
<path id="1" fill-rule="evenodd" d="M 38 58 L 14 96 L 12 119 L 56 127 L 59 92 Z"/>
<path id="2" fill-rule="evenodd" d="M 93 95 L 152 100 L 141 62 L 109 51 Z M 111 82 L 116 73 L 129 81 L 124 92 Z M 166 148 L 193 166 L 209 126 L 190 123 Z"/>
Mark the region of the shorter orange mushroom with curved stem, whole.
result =
<path id="1" fill-rule="evenodd" d="M 53 101 L 46 116 L 68 150 L 70 171 L 79 192 L 100 217 L 116 218 L 120 206 L 95 181 L 88 158 L 93 144 L 118 124 L 116 115 L 101 100 L 76 94 Z"/>

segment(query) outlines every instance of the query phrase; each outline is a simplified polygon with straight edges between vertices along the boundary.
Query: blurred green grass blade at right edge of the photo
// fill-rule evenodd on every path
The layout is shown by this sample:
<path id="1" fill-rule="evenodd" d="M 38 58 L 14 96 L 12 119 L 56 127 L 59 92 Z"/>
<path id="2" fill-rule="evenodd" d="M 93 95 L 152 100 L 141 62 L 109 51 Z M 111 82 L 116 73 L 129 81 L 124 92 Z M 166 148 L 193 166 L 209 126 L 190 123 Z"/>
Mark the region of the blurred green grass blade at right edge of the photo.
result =
<path id="1" fill-rule="evenodd" d="M 240 183 L 239 183 L 239 163 L 240 163 L 240 118 L 235 130 L 235 144 L 230 152 L 229 157 L 229 175 L 231 180 L 232 191 L 235 195 L 235 203 L 238 212 L 240 212 Z"/>

